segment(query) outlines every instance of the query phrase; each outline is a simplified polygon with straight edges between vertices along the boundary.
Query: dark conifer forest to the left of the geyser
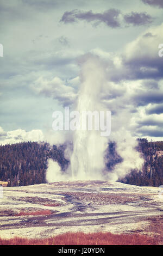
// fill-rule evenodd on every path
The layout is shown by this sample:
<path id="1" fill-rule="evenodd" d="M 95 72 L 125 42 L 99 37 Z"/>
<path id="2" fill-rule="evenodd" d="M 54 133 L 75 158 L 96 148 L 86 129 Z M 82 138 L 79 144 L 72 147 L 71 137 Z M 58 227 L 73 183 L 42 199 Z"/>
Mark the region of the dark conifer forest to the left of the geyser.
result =
<path id="1" fill-rule="evenodd" d="M 8 186 L 46 183 L 48 159 L 57 161 L 62 170 L 66 169 L 64 145 L 50 147 L 48 143 L 37 142 L 1 145 L 0 180 L 8 181 Z"/>

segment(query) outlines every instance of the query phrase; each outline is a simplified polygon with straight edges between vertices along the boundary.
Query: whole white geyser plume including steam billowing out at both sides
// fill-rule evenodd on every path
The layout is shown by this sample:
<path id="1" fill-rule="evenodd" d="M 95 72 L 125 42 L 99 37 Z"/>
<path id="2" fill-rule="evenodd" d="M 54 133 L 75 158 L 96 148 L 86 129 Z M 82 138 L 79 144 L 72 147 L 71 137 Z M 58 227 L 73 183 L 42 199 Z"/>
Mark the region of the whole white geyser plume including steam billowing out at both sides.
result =
<path id="1" fill-rule="evenodd" d="M 108 86 L 105 75 L 105 64 L 98 57 L 88 55 L 82 59 L 80 74 L 80 89 L 76 103 L 76 111 L 104 111 L 102 95 Z M 120 107 L 117 107 L 120 108 Z M 125 124 L 126 112 L 120 108 L 120 113 L 116 109 L 117 115 L 112 119 L 111 136 L 117 143 L 117 153 L 123 159 L 116 164 L 114 170 L 108 172 L 105 169 L 104 154 L 108 147 L 108 137 L 102 137 L 101 131 L 76 130 L 73 133 L 73 150 L 70 154 L 70 166 L 66 173 L 63 173 L 58 163 L 49 160 L 47 176 L 48 182 L 59 180 L 118 180 L 124 178 L 131 169 L 141 170 L 143 159 L 139 152 L 135 150 L 136 141 Z M 122 125 L 118 114 L 121 114 Z"/>

